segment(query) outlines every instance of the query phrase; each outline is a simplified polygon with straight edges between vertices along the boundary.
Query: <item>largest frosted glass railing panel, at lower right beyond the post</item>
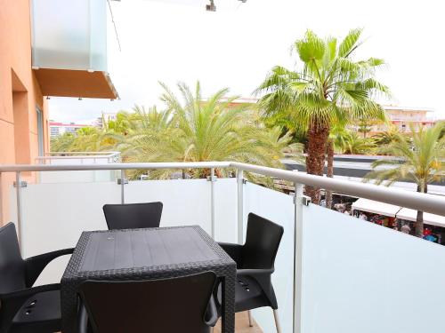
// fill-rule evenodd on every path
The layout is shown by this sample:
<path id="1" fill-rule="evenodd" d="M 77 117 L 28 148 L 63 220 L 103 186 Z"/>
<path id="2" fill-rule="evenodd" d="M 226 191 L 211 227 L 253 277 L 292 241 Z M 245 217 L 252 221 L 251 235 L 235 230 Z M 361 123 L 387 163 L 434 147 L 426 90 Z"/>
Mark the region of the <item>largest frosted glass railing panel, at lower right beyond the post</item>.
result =
<path id="1" fill-rule="evenodd" d="M 439 333 L 445 247 L 303 207 L 304 333 Z"/>

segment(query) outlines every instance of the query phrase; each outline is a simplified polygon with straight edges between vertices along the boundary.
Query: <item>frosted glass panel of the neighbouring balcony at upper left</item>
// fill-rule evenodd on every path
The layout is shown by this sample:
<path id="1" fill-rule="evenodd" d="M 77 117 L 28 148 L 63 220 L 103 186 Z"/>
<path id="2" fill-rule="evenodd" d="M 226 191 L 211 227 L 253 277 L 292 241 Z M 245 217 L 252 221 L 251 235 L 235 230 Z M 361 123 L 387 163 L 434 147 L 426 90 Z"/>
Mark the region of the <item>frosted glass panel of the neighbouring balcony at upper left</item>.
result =
<path id="1" fill-rule="evenodd" d="M 32 65 L 107 71 L 106 0 L 33 0 Z"/>

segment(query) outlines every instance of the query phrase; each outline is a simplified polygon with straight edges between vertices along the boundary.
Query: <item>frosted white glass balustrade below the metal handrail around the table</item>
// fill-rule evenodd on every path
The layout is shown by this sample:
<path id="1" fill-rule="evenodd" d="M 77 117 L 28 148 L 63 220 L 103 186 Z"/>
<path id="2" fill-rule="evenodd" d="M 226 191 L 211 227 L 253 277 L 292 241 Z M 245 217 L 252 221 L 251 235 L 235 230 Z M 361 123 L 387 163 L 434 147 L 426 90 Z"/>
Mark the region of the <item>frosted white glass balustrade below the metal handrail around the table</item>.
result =
<path id="1" fill-rule="evenodd" d="M 161 226 L 196 224 L 214 238 L 236 242 L 234 178 L 135 181 L 125 202 L 164 202 Z M 21 189 L 25 256 L 74 246 L 83 230 L 106 228 L 104 203 L 120 202 L 115 182 L 30 184 Z M 15 189 L 12 189 L 15 202 Z M 285 228 L 273 283 L 283 332 L 292 332 L 294 311 L 293 198 L 262 186 L 243 187 L 244 233 L 255 212 Z M 442 332 L 445 312 L 445 247 L 310 204 L 302 216 L 302 282 L 296 286 L 297 323 L 304 333 Z M 65 259 L 66 262 L 66 259 Z M 56 281 L 63 259 L 39 282 Z M 271 309 L 255 310 L 264 333 L 275 332 Z M 301 318 L 299 318 L 301 317 Z"/>

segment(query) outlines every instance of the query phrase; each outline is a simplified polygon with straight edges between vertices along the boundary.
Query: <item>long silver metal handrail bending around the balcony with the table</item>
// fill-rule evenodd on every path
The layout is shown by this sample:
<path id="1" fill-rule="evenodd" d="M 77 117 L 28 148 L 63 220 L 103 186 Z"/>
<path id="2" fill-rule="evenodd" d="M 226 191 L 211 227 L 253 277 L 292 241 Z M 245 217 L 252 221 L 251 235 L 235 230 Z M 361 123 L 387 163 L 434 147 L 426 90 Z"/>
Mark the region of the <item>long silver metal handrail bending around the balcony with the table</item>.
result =
<path id="1" fill-rule="evenodd" d="M 388 202 L 402 207 L 423 210 L 445 216 L 445 197 L 434 194 L 420 194 L 406 190 L 356 183 L 343 179 L 326 178 L 303 172 L 281 170 L 254 164 L 237 162 L 196 162 L 196 163 L 102 163 L 102 164 L 9 164 L 0 165 L 1 172 L 20 171 L 62 171 L 62 170 L 157 170 L 157 169 L 203 169 L 233 168 L 293 181 L 297 184 L 317 186 L 339 193 L 359 196 L 378 202 Z"/>

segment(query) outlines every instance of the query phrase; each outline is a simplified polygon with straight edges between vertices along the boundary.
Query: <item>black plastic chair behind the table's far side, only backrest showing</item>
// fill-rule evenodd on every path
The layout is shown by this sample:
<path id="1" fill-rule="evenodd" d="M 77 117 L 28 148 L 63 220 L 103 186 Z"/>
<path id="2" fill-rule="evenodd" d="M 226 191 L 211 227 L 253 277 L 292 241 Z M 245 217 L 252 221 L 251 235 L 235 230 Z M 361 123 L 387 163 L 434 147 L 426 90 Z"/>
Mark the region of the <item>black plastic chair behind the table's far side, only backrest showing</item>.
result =
<path id="1" fill-rule="evenodd" d="M 106 204 L 103 213 L 109 230 L 158 227 L 162 202 Z"/>

